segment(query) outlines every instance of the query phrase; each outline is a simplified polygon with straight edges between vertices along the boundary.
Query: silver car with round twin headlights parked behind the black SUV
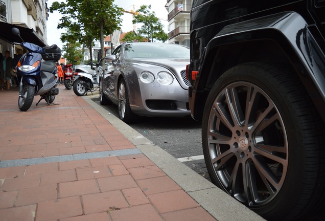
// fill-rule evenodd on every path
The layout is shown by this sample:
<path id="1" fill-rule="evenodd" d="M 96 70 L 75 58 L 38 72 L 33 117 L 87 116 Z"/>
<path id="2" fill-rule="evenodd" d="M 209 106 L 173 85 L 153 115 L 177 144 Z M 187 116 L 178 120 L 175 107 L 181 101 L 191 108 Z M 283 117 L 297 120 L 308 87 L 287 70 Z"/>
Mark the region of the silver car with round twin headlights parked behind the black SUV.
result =
<path id="1" fill-rule="evenodd" d="M 188 47 L 168 43 L 125 43 L 106 56 L 100 103 L 118 105 L 126 123 L 139 116 L 190 116 L 185 76 Z"/>

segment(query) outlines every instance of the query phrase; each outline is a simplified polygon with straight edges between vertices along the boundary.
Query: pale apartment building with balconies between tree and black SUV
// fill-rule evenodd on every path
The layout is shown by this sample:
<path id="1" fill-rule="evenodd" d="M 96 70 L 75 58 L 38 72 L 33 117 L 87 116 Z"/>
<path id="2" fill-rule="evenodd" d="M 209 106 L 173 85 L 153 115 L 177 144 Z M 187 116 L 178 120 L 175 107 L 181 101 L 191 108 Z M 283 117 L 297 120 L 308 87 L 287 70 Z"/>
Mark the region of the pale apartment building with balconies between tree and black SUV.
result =
<path id="1" fill-rule="evenodd" d="M 190 10 L 192 0 L 167 0 L 168 43 L 190 47 Z"/>

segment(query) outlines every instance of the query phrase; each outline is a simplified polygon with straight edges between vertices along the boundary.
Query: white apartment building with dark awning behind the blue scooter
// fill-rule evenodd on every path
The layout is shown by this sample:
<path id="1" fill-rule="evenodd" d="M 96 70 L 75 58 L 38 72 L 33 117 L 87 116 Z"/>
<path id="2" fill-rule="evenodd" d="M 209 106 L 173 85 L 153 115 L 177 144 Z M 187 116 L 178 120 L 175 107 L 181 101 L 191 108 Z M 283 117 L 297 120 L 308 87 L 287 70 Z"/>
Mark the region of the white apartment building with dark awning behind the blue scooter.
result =
<path id="1" fill-rule="evenodd" d="M 14 27 L 24 41 L 46 46 L 48 10 L 47 0 L 0 0 L 0 52 L 8 50 L 13 57 L 13 42 L 21 41 L 11 32 Z"/>

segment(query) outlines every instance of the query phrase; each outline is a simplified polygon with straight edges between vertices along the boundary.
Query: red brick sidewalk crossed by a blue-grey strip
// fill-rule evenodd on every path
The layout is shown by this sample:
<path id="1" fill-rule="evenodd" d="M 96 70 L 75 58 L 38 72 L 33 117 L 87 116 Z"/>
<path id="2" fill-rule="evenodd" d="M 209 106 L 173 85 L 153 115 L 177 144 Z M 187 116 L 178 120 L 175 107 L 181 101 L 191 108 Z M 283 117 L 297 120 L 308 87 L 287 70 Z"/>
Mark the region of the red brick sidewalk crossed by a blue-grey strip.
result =
<path id="1" fill-rule="evenodd" d="M 85 99 L 0 91 L 0 220 L 216 220 Z"/>

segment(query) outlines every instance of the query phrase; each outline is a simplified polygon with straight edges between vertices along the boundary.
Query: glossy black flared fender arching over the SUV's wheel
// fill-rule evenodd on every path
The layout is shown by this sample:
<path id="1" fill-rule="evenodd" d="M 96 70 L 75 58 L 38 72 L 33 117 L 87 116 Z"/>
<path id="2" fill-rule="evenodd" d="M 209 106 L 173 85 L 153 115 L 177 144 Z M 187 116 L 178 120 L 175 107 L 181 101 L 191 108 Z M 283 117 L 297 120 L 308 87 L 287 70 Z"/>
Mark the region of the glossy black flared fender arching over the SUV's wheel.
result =
<path id="1" fill-rule="evenodd" d="M 210 89 L 206 86 L 211 74 L 211 56 L 220 56 L 218 48 L 238 42 L 272 40 L 283 50 L 315 104 L 325 101 L 325 56 L 308 29 L 306 20 L 296 12 L 283 12 L 243 21 L 224 27 L 203 52 L 198 75 L 189 90 L 192 117 L 202 119 L 203 108 Z M 220 73 L 219 73 L 220 74 Z M 222 74 L 222 73 L 221 73 Z M 193 102 L 194 101 L 194 102 Z M 195 105 L 195 106 L 194 106 Z M 316 105 L 325 121 L 325 107 Z"/>

